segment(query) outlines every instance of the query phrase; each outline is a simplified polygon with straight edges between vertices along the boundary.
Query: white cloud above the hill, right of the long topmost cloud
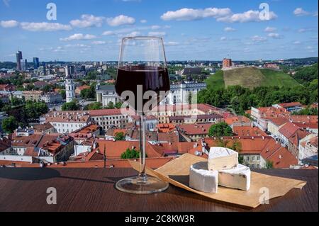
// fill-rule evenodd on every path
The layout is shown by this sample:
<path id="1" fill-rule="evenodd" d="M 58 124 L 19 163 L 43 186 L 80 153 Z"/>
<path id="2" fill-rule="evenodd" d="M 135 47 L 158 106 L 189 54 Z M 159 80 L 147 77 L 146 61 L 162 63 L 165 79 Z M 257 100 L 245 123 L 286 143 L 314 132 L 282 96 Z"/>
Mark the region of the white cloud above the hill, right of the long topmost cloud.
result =
<path id="1" fill-rule="evenodd" d="M 276 13 L 269 12 L 269 20 L 272 21 L 278 18 Z M 222 18 L 217 18 L 217 21 L 226 22 L 226 23 L 247 23 L 247 22 L 262 22 L 265 21 L 260 17 L 259 11 L 246 11 L 244 13 L 235 13 L 233 15 L 228 15 Z"/>

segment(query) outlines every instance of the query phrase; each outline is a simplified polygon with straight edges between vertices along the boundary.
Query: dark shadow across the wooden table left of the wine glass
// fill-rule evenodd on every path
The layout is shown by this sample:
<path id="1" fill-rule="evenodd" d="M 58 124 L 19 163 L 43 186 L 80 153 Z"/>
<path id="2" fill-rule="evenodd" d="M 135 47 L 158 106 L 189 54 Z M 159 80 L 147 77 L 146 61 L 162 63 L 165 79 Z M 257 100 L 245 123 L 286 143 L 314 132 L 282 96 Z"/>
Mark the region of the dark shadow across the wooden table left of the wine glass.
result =
<path id="1" fill-rule="evenodd" d="M 91 181 L 98 183 L 114 183 L 113 181 L 102 181 L 95 179 L 83 179 L 72 176 L 62 176 L 56 169 L 36 169 L 36 168 L 4 168 L 0 170 L 0 179 L 10 179 L 16 181 L 42 181 L 47 179 L 71 179 L 79 181 Z"/>

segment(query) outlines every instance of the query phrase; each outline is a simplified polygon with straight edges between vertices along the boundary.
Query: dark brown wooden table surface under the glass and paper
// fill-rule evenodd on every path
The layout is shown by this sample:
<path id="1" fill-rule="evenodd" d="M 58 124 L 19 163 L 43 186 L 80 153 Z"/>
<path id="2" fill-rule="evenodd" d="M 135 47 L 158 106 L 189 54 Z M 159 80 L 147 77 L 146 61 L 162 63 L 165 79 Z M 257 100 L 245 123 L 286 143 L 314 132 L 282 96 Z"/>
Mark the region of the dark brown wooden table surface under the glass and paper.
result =
<path id="1" fill-rule="evenodd" d="M 308 181 L 303 190 L 247 210 L 169 186 L 164 193 L 141 196 L 114 188 L 133 169 L 0 169 L 0 211 L 211 212 L 316 211 L 318 170 L 259 170 L 273 176 Z M 57 205 L 47 205 L 47 188 L 57 189 Z"/>

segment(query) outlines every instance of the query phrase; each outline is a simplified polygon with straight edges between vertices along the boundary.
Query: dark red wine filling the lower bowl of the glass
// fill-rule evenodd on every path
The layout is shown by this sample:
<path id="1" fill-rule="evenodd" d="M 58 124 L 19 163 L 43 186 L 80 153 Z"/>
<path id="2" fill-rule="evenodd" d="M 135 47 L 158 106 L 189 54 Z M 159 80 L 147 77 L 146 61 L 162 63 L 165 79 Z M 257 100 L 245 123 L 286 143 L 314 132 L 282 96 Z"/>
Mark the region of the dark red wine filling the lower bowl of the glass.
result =
<path id="1" fill-rule="evenodd" d="M 138 92 L 138 86 L 142 86 L 142 92 Z M 169 91 L 169 75 L 167 69 L 162 67 L 149 66 L 126 66 L 118 69 L 118 77 L 116 79 L 116 93 L 121 96 L 123 91 L 132 91 L 134 98 L 123 99 L 135 108 L 135 111 L 145 114 L 143 107 L 145 103 L 151 101 L 152 106 L 157 106 L 166 96 L 160 96 L 160 91 Z M 144 95 L 146 91 L 155 91 L 157 99 L 144 99 L 139 94 Z M 162 92 L 161 92 L 162 93 Z M 138 105 L 138 100 L 142 99 L 142 106 Z M 148 109 L 151 110 L 151 109 Z"/>

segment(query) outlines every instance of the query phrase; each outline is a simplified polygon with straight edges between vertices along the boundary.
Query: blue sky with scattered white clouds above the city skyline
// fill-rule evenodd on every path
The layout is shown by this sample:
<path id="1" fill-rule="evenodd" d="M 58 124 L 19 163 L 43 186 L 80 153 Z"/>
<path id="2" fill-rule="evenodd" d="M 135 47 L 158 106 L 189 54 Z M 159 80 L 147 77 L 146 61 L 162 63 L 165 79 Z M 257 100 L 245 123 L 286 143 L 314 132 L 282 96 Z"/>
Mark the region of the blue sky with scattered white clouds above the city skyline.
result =
<path id="1" fill-rule="evenodd" d="M 47 20 L 47 4 L 57 20 Z M 0 61 L 117 60 L 127 35 L 164 37 L 167 60 L 318 56 L 318 1 L 0 0 Z"/>

